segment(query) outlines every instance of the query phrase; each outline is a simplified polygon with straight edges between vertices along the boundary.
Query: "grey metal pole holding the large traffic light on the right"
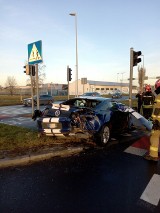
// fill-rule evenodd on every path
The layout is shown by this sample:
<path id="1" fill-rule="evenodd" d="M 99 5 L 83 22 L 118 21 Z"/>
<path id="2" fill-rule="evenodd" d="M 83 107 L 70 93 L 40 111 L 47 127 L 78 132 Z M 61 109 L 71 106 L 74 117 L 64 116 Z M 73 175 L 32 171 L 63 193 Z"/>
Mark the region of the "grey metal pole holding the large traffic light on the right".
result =
<path id="1" fill-rule="evenodd" d="M 129 107 L 132 107 L 133 48 L 130 48 Z"/>

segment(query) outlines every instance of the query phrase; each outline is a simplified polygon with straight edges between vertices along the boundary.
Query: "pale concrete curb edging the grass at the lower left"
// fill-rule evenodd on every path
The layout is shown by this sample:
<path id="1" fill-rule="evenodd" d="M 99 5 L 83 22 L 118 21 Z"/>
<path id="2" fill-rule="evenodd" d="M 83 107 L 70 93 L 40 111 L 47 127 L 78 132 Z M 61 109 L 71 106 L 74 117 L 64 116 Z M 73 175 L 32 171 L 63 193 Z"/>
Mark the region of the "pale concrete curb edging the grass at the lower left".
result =
<path id="1" fill-rule="evenodd" d="M 9 159 L 9 158 L 2 159 L 2 160 L 0 160 L 0 169 L 11 167 L 11 166 L 20 166 L 20 165 L 31 164 L 34 162 L 47 160 L 47 159 L 50 159 L 52 157 L 57 157 L 57 156 L 66 157 L 66 156 L 78 154 L 82 151 L 83 151 L 83 148 L 78 147 L 78 148 L 68 148 L 65 150 L 55 151 L 55 152 L 50 151 L 50 152 L 46 152 L 43 154 L 24 155 L 21 157 L 16 157 L 14 159 Z"/>

